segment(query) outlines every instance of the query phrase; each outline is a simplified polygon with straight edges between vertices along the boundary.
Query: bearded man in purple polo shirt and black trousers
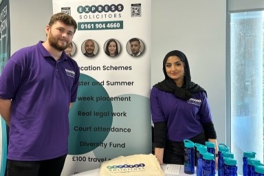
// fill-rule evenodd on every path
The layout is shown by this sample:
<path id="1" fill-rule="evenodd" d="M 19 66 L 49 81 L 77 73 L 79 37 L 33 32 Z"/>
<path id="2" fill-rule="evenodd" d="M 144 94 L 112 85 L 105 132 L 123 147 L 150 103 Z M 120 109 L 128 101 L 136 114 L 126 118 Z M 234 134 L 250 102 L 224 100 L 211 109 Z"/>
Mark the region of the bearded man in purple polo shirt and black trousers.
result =
<path id="1" fill-rule="evenodd" d="M 80 72 L 64 50 L 76 21 L 54 14 L 47 39 L 14 53 L 0 77 L 0 114 L 10 126 L 8 175 L 61 175 L 68 152 L 69 108 Z"/>

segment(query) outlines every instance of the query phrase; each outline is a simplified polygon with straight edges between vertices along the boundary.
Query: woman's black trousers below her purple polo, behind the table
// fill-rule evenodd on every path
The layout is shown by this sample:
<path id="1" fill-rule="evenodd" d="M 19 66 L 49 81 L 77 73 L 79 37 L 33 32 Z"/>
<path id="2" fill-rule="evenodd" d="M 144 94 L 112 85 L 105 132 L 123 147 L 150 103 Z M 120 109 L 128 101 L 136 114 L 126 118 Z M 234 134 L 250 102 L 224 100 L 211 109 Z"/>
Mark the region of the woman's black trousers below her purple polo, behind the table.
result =
<path id="1" fill-rule="evenodd" d="M 194 143 L 206 144 L 206 136 L 204 133 L 196 135 L 195 137 L 190 138 Z M 196 161 L 196 151 L 195 151 L 195 161 Z M 184 142 L 173 142 L 166 140 L 166 145 L 164 147 L 164 164 L 184 164 Z"/>

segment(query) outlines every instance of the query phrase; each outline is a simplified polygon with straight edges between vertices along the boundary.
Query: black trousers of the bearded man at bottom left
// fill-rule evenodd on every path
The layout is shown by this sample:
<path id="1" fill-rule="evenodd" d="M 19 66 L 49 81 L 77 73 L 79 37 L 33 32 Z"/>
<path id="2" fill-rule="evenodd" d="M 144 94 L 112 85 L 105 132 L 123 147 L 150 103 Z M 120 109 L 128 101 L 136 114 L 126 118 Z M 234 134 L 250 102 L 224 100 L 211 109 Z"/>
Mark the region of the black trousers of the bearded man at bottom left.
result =
<path id="1" fill-rule="evenodd" d="M 8 159 L 8 176 L 60 176 L 67 155 L 43 161 Z"/>

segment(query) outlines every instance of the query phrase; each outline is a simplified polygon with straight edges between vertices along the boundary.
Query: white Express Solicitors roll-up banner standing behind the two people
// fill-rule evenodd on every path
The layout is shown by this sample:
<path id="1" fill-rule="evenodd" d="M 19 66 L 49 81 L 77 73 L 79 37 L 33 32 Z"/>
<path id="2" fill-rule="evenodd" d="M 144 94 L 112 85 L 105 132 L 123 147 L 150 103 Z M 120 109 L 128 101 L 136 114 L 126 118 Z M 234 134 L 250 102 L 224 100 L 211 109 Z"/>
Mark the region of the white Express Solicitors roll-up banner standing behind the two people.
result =
<path id="1" fill-rule="evenodd" d="M 151 0 L 52 2 L 78 24 L 67 53 L 81 73 L 62 175 L 151 153 Z"/>

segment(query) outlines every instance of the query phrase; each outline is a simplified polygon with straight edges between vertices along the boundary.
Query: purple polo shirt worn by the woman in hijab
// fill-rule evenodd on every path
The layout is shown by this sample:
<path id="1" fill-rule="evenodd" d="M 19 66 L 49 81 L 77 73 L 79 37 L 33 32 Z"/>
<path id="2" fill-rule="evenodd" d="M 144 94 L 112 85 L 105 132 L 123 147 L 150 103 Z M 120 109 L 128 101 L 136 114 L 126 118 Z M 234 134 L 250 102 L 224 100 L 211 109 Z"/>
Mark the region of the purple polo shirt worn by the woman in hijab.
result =
<path id="1" fill-rule="evenodd" d="M 212 122 L 210 107 L 204 92 L 181 100 L 173 94 L 151 89 L 151 114 L 153 123 L 167 122 L 167 139 L 182 142 L 203 131 L 201 123 Z"/>

